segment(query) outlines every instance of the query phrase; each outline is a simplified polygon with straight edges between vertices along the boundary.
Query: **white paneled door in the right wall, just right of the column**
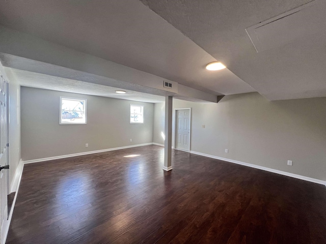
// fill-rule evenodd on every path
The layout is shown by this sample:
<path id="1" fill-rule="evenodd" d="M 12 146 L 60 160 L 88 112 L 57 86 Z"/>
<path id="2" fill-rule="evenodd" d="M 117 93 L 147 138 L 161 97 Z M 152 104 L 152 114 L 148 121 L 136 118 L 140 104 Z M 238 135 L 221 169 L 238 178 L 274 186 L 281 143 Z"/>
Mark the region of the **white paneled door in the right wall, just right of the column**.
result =
<path id="1" fill-rule="evenodd" d="M 190 109 L 176 110 L 175 148 L 190 150 Z"/>

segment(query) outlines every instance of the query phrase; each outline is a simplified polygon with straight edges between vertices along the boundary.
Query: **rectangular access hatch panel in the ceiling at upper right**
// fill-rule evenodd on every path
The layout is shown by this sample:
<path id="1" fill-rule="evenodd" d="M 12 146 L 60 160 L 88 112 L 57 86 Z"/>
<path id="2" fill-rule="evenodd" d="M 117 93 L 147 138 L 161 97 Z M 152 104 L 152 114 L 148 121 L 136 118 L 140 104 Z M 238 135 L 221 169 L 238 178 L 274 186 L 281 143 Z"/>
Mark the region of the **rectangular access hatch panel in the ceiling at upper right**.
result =
<path id="1" fill-rule="evenodd" d="M 256 51 L 326 35 L 326 1 L 316 0 L 246 29 Z M 309 38 L 308 38 L 309 40 Z"/>

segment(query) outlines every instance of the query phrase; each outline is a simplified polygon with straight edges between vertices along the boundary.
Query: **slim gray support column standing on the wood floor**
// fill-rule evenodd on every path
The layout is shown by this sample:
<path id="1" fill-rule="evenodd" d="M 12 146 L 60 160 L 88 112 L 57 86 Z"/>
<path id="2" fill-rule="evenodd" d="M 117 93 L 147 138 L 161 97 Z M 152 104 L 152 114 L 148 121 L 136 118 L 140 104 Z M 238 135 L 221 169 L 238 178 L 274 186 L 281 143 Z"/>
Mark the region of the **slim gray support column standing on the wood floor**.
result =
<path id="1" fill-rule="evenodd" d="M 165 141 L 164 141 L 164 167 L 169 171 L 172 169 L 172 97 L 165 97 Z"/>

